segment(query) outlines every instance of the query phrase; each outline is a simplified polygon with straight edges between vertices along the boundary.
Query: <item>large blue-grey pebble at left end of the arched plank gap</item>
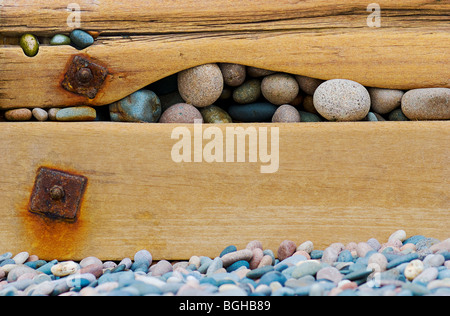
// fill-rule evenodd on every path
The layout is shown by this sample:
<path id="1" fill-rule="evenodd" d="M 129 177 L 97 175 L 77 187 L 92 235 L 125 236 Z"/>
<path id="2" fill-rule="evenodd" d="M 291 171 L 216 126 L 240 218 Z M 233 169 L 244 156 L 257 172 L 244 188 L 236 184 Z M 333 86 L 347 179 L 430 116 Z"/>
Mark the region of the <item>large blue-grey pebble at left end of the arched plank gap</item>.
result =
<path id="1" fill-rule="evenodd" d="M 156 123 L 161 117 L 161 101 L 150 90 L 140 90 L 109 106 L 114 122 Z"/>

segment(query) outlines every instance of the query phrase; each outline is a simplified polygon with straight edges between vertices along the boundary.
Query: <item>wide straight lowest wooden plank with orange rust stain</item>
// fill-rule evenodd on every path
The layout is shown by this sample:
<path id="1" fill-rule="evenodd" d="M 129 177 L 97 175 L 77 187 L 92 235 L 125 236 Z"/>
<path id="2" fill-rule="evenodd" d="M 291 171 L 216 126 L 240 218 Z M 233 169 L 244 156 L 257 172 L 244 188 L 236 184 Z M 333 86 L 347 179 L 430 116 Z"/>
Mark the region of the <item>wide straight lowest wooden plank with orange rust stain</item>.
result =
<path id="1" fill-rule="evenodd" d="M 323 249 L 397 229 L 449 237 L 450 122 L 214 127 L 249 126 L 279 128 L 278 172 L 176 163 L 177 125 L 0 123 L 0 252 L 114 260 L 145 248 L 188 259 L 255 239 L 276 251 L 284 239 Z M 184 127 L 193 137 L 198 125 Z M 88 178 L 77 223 L 28 212 L 40 166 Z"/>

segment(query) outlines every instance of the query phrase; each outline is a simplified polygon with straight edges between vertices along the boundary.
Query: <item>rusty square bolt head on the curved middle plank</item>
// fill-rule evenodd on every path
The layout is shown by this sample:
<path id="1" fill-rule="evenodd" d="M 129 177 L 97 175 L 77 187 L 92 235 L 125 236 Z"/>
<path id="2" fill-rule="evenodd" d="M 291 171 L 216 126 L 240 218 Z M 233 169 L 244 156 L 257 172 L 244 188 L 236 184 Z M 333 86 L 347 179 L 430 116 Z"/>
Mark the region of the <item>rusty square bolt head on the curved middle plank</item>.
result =
<path id="1" fill-rule="evenodd" d="M 73 57 L 61 83 L 67 91 L 95 99 L 108 75 L 108 70 L 84 56 Z"/>

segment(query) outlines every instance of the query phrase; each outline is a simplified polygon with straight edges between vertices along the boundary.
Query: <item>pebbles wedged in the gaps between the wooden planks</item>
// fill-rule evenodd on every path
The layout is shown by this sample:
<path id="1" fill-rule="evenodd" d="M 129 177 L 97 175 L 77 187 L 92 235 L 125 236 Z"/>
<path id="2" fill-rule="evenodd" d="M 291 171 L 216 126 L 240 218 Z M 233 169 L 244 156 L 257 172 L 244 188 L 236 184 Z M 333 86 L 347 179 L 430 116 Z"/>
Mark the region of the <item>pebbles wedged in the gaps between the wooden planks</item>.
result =
<path id="1" fill-rule="evenodd" d="M 50 45 L 84 49 L 98 33 L 55 35 Z M 38 39 L 25 34 L 27 56 Z M 239 64 L 205 64 L 181 71 L 111 105 L 0 112 L 7 121 L 114 121 L 138 123 L 252 123 L 322 121 L 449 120 L 450 89 L 409 91 L 364 87 L 346 80 L 323 81 Z"/>

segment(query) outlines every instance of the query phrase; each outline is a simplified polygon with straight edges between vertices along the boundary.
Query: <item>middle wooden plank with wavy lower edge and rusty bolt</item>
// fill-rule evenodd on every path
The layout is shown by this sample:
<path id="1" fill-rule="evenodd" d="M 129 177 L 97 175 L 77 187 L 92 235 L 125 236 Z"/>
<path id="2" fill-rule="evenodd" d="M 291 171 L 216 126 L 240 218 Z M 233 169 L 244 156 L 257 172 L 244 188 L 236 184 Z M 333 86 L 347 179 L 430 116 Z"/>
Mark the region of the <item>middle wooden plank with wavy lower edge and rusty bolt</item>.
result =
<path id="1" fill-rule="evenodd" d="M 109 104 L 168 75 L 209 62 L 320 79 L 345 78 L 381 88 L 450 87 L 449 43 L 448 31 L 384 28 L 106 38 L 82 52 L 110 72 L 93 100 L 61 87 L 68 63 L 79 51 L 43 46 L 36 57 L 28 58 L 20 47 L 6 46 L 0 49 L 0 109 Z"/>

